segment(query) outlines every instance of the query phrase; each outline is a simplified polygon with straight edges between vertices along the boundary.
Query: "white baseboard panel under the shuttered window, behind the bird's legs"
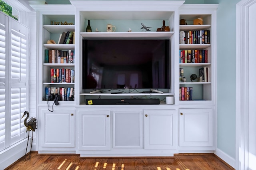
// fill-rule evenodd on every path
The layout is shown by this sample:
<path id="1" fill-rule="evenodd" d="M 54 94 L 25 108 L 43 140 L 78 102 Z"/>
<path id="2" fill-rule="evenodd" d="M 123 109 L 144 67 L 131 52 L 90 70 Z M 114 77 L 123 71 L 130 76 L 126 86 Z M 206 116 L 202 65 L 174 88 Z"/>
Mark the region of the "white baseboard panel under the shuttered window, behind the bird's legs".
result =
<path id="1" fill-rule="evenodd" d="M 31 140 L 31 137 L 30 137 Z M 25 155 L 28 138 L 21 140 L 20 142 L 2 150 L 0 152 L 0 169 L 7 168 L 15 161 Z M 28 150 L 30 151 L 30 142 L 28 142 Z"/>

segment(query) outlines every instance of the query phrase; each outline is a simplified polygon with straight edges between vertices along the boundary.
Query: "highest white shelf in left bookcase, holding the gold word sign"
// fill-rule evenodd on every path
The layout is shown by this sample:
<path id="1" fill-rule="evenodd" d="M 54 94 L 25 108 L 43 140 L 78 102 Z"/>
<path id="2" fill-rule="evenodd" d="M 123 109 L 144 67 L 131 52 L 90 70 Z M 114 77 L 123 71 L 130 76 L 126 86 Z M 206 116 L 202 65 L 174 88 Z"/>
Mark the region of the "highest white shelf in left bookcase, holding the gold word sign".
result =
<path id="1" fill-rule="evenodd" d="M 75 31 L 75 25 L 44 25 L 43 26 L 50 33 L 62 33 Z"/>

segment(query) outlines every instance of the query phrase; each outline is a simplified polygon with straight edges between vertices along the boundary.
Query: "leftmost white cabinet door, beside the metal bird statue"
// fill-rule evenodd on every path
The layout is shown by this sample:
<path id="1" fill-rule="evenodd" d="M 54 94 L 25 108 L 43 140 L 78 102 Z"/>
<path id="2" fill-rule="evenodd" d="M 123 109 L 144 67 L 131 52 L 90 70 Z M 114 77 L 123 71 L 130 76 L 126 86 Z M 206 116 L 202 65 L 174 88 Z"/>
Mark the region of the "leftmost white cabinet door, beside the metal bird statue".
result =
<path id="1" fill-rule="evenodd" d="M 75 147 L 75 110 L 41 110 L 41 120 L 39 146 Z"/>

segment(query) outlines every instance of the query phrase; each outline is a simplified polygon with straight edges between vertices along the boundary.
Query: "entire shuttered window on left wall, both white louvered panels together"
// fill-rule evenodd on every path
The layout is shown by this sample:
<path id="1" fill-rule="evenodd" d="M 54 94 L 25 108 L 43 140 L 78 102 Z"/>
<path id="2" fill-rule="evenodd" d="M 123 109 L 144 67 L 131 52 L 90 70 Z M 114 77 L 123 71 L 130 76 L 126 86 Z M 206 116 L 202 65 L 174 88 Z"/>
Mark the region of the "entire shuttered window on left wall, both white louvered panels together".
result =
<path id="1" fill-rule="evenodd" d="M 0 150 L 26 137 L 28 28 L 0 13 Z"/>

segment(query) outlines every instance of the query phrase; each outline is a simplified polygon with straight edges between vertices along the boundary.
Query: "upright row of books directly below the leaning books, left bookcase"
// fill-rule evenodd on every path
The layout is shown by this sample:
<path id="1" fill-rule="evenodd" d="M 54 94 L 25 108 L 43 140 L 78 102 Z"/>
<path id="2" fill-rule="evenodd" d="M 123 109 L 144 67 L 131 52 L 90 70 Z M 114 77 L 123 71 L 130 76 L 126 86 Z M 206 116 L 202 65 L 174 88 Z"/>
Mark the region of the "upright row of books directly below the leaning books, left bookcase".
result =
<path id="1" fill-rule="evenodd" d="M 74 50 L 45 49 L 44 63 L 74 63 Z"/>

